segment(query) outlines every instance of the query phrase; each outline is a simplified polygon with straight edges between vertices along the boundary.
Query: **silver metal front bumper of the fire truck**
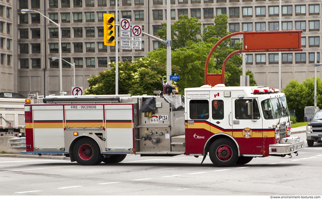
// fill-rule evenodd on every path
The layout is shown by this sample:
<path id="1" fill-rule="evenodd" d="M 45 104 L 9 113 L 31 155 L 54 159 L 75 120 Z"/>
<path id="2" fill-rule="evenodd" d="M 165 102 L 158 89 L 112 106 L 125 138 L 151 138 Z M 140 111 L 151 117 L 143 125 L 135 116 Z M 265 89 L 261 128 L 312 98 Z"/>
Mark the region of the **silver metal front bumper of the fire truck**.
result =
<path id="1" fill-rule="evenodd" d="M 269 145 L 269 154 L 270 155 L 277 155 L 277 156 L 283 156 L 283 155 L 288 155 L 291 153 L 295 153 L 299 150 L 304 149 L 304 141 L 299 140 L 298 141 L 293 141 L 293 143 L 287 143 L 287 139 L 289 138 L 283 138 L 286 141 L 284 143 L 279 143 L 279 144 L 271 144 Z"/>

